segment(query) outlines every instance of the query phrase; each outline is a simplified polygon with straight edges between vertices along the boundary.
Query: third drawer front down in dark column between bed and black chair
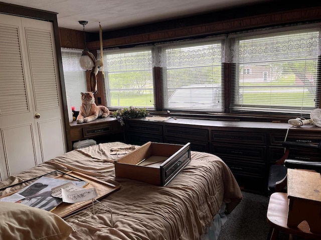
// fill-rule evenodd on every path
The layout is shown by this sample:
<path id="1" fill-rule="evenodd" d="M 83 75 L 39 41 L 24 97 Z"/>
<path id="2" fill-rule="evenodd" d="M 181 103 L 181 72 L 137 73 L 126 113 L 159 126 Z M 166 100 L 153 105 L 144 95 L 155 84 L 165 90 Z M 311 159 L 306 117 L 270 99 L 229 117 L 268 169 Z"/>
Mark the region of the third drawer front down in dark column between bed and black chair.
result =
<path id="1" fill-rule="evenodd" d="M 252 176 L 252 177 L 265 177 L 265 164 L 251 164 L 251 163 L 240 163 L 233 160 L 224 160 L 224 162 L 229 166 L 234 175 L 239 176 Z"/>

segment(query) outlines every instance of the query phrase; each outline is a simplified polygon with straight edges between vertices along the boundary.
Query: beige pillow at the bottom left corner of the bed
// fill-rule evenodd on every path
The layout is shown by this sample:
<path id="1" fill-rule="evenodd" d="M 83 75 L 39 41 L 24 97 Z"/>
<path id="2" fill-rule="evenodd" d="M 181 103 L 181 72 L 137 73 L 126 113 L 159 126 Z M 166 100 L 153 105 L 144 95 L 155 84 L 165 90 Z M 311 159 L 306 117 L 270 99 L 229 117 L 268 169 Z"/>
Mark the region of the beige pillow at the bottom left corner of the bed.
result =
<path id="1" fill-rule="evenodd" d="M 66 239 L 73 228 L 58 215 L 16 202 L 0 202 L 0 239 Z"/>

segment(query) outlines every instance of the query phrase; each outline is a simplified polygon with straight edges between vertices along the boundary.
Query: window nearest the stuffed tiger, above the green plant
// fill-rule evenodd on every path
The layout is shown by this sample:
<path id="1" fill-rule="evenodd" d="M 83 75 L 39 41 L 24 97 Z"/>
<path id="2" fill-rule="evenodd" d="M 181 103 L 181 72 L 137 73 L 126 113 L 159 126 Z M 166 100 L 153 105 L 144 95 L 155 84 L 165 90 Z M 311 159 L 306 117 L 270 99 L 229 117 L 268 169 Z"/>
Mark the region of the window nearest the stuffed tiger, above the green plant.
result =
<path id="1" fill-rule="evenodd" d="M 155 109 L 151 48 L 104 51 L 103 58 L 107 107 Z"/>

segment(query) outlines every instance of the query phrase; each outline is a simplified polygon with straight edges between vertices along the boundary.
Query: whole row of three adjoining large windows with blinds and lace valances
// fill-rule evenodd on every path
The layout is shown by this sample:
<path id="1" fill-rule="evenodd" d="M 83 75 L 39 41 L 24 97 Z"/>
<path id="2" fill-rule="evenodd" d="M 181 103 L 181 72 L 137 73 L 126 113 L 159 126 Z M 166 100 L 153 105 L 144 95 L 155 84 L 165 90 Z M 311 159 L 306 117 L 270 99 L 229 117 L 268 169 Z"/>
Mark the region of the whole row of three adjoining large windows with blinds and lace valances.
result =
<path id="1" fill-rule="evenodd" d="M 320 102 L 319 26 L 104 50 L 107 107 L 306 117 Z"/>

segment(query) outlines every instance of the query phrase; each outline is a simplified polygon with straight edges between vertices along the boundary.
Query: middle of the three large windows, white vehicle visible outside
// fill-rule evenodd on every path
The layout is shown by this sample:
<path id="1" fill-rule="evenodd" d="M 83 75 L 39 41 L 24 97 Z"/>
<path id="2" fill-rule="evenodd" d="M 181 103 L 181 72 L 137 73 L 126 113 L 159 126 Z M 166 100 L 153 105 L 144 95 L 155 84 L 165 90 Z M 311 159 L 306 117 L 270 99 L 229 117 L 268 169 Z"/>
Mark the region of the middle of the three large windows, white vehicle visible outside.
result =
<path id="1" fill-rule="evenodd" d="M 161 46 L 162 96 L 167 110 L 222 112 L 222 42 L 185 42 Z"/>

